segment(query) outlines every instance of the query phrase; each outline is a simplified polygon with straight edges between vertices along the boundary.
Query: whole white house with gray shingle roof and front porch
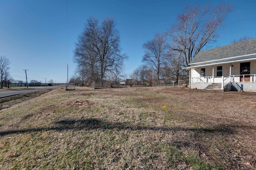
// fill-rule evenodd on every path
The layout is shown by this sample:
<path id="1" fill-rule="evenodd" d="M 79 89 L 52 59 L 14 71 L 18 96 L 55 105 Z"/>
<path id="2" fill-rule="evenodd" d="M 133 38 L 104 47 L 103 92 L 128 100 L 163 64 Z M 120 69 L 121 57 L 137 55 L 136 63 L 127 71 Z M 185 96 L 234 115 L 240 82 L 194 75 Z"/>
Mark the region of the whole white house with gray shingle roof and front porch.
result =
<path id="1" fill-rule="evenodd" d="M 190 88 L 256 91 L 256 38 L 200 51 L 183 69 Z"/>

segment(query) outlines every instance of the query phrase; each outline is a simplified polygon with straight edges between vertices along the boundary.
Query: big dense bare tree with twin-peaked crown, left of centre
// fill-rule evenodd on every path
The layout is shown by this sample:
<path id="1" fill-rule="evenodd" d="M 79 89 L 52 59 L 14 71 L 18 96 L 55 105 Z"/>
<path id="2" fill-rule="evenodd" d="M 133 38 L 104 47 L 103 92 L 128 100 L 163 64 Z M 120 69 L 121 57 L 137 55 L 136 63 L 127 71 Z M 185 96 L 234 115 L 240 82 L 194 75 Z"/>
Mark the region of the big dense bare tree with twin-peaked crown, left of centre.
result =
<path id="1" fill-rule="evenodd" d="M 115 26 L 112 18 L 106 17 L 99 25 L 91 17 L 76 43 L 74 61 L 90 70 L 92 80 L 98 79 L 101 85 L 115 64 L 128 58 L 121 53 L 120 34 Z"/>

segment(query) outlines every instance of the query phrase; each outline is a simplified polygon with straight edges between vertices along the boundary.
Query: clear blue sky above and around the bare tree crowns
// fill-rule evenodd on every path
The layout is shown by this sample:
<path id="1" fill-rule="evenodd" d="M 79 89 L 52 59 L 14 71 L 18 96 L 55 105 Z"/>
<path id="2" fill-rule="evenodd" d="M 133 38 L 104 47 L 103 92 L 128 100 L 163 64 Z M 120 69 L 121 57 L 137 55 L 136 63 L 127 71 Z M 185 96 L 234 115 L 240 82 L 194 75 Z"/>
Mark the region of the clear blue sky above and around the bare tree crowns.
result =
<path id="1" fill-rule="evenodd" d="M 256 38 L 255 0 L 0 0 L 0 56 L 10 59 L 16 80 L 66 82 L 75 71 L 74 43 L 86 20 L 114 18 L 122 52 L 129 56 L 126 74 L 141 63 L 142 44 L 166 31 L 185 4 L 234 6 L 218 33 L 216 46 L 228 45 L 244 35 Z M 46 78 L 46 79 L 45 79 Z"/>

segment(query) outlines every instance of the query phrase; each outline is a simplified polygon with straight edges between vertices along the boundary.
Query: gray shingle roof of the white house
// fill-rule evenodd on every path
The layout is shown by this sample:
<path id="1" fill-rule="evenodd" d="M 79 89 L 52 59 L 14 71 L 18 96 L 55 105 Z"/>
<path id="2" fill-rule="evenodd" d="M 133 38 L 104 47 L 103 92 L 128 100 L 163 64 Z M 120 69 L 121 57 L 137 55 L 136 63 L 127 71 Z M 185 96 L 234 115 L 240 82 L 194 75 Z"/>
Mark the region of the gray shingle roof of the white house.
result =
<path id="1" fill-rule="evenodd" d="M 190 64 L 212 61 L 217 59 L 225 59 L 241 55 L 248 55 L 253 53 L 256 53 L 256 38 L 242 41 L 239 43 L 225 45 L 222 47 L 217 47 L 215 49 L 200 51 L 192 59 Z"/>

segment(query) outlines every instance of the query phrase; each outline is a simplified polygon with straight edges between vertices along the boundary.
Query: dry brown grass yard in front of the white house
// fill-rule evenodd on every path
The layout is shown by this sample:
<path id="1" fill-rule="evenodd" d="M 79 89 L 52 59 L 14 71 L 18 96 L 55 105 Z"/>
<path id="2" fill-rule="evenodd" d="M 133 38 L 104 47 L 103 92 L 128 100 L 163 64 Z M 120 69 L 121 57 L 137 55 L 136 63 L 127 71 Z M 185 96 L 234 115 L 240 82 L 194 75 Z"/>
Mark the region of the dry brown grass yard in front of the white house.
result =
<path id="1" fill-rule="evenodd" d="M 254 92 L 55 89 L 0 110 L 0 169 L 253 170 L 255 139 Z"/>

